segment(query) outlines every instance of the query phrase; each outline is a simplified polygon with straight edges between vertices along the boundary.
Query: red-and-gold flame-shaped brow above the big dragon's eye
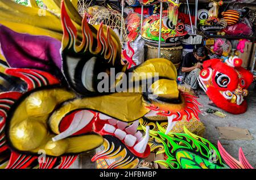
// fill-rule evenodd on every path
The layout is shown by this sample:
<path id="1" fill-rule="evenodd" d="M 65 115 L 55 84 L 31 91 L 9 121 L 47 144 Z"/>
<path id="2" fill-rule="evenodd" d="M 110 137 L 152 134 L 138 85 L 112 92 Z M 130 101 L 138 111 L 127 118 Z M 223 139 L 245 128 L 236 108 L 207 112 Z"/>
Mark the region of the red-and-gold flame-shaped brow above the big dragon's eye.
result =
<path id="1" fill-rule="evenodd" d="M 75 53 L 92 53 L 101 55 L 109 63 L 114 65 L 115 61 L 121 58 L 118 49 L 120 42 L 117 38 L 113 40 L 114 32 L 110 33 L 108 27 L 101 24 L 99 27 L 87 23 L 86 16 L 82 19 L 82 40 L 77 38 L 77 29 L 69 18 L 64 1 L 61 3 L 61 20 L 63 25 L 62 50 L 73 50 Z M 97 29 L 98 28 L 98 29 Z M 118 47 L 119 46 L 119 47 Z M 96 48 L 94 48 L 96 47 Z"/>

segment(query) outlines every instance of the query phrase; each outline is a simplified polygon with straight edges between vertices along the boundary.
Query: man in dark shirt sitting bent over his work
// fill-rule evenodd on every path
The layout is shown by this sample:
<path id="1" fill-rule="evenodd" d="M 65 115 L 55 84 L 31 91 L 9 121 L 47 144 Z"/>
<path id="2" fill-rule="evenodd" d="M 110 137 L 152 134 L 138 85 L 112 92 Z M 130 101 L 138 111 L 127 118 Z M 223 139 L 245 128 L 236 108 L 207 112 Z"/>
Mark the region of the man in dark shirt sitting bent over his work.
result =
<path id="1" fill-rule="evenodd" d="M 197 77 L 203 68 L 203 62 L 209 58 L 207 49 L 200 45 L 197 46 L 193 52 L 185 55 L 181 72 L 185 72 L 184 82 L 196 90 L 198 87 Z"/>

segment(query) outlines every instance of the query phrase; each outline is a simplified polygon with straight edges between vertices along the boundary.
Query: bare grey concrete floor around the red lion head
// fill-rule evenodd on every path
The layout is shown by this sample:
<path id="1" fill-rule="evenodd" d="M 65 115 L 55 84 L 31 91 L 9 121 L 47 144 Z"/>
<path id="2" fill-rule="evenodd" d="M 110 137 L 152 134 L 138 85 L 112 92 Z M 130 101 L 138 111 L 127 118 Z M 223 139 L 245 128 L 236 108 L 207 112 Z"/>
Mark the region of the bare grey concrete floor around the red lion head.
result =
<path id="1" fill-rule="evenodd" d="M 200 95 L 199 102 L 204 105 L 201 107 L 203 110 L 208 108 L 218 109 L 213 106 L 207 105 L 209 98 L 203 93 Z M 243 152 L 250 164 L 256 168 L 256 93 L 253 91 L 253 86 L 249 88 L 249 96 L 247 97 L 248 109 L 247 112 L 240 115 L 227 114 L 225 118 L 219 118 L 216 115 L 208 114 L 199 117 L 205 125 L 204 138 L 208 139 L 214 145 L 220 140 L 226 151 L 238 160 L 238 150 L 242 147 Z M 221 109 L 218 109 L 223 112 Z M 254 140 L 225 140 L 219 139 L 218 131 L 216 127 L 239 127 L 246 128 L 253 136 Z M 79 162 L 72 168 L 96 168 L 96 164 L 90 161 L 90 158 L 94 155 L 95 151 L 84 153 L 80 156 Z"/>

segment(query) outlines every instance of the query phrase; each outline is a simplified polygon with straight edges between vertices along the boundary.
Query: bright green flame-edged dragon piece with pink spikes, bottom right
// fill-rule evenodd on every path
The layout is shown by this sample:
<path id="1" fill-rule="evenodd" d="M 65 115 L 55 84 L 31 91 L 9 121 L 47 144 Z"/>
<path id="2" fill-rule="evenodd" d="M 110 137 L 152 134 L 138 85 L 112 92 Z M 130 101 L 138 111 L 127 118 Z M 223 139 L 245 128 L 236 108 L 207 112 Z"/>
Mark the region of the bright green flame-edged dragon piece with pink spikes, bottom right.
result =
<path id="1" fill-rule="evenodd" d="M 192 134 L 185 127 L 185 134 L 171 132 L 166 134 L 160 126 L 159 130 L 150 130 L 150 135 L 163 144 L 165 157 L 164 160 L 155 162 L 168 169 L 253 169 L 241 148 L 237 161 L 225 151 L 220 142 L 217 149 L 207 139 Z M 224 164 L 222 158 L 228 166 Z"/>

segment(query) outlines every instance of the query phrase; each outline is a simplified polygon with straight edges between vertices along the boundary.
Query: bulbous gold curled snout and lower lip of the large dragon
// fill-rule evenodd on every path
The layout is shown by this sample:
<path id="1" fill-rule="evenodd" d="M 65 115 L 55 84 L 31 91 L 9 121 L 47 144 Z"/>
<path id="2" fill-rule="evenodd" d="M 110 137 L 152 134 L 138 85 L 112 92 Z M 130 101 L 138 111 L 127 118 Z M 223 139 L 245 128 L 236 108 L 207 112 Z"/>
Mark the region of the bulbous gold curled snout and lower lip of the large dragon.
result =
<path id="1" fill-rule="evenodd" d="M 103 139 L 100 135 L 81 135 L 52 141 L 56 134 L 48 129 L 48 116 L 58 104 L 74 97 L 72 92 L 61 88 L 37 91 L 26 97 L 10 121 L 9 136 L 13 146 L 19 151 L 37 153 L 44 149 L 47 155 L 60 156 L 88 151 L 101 145 Z"/>

